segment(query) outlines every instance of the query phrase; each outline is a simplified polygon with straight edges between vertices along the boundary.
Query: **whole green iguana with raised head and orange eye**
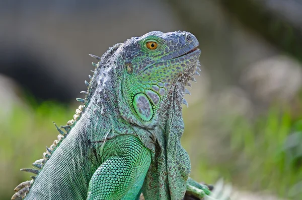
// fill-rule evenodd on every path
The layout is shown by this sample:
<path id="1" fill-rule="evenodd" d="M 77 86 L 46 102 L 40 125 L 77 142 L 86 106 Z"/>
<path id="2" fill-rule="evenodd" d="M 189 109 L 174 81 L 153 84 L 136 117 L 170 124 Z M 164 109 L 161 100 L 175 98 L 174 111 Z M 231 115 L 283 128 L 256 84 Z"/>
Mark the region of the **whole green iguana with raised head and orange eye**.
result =
<path id="1" fill-rule="evenodd" d="M 33 165 L 34 181 L 12 199 L 182 199 L 209 190 L 192 179 L 180 144 L 184 86 L 200 50 L 188 32 L 154 31 L 110 48 L 83 92 L 84 103 Z M 198 73 L 197 73 L 198 74 Z"/>

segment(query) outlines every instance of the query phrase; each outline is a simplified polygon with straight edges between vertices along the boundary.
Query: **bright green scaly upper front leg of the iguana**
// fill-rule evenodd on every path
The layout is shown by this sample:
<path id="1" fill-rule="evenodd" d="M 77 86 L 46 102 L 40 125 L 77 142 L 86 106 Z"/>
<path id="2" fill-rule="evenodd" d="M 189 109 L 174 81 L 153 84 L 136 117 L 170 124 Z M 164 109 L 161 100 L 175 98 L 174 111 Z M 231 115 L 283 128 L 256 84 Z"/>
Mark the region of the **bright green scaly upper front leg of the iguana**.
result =
<path id="1" fill-rule="evenodd" d="M 107 141 L 100 151 L 104 162 L 90 180 L 87 200 L 138 199 L 150 166 L 150 151 L 129 135 Z"/>

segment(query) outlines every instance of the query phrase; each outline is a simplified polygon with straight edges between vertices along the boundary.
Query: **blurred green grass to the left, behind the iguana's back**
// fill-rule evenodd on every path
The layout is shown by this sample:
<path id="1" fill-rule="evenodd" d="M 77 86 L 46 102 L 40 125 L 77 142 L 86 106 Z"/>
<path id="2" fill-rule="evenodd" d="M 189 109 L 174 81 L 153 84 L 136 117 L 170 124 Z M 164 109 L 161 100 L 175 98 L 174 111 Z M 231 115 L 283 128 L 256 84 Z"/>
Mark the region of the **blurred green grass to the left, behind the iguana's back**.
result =
<path id="1" fill-rule="evenodd" d="M 58 132 L 52 121 L 64 125 L 75 110 L 51 102 L 34 107 L 16 106 L 0 120 L 0 199 L 10 199 L 15 186 L 30 179 L 30 174 L 20 169 L 32 167 L 56 139 Z"/>

